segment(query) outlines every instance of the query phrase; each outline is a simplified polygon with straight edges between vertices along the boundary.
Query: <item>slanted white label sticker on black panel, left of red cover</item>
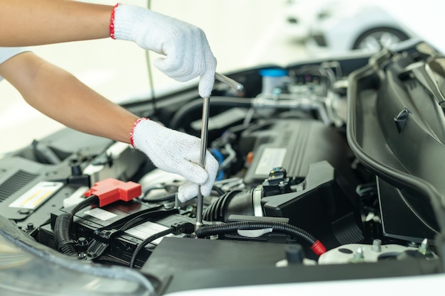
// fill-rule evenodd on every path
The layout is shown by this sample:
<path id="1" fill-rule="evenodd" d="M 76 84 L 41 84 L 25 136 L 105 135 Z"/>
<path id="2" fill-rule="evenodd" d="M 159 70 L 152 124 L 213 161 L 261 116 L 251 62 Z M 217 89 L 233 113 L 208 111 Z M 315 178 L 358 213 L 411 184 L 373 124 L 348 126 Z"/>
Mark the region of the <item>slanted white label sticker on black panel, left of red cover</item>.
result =
<path id="1" fill-rule="evenodd" d="M 37 209 L 45 200 L 63 187 L 63 182 L 38 182 L 30 190 L 18 197 L 9 207 Z"/>

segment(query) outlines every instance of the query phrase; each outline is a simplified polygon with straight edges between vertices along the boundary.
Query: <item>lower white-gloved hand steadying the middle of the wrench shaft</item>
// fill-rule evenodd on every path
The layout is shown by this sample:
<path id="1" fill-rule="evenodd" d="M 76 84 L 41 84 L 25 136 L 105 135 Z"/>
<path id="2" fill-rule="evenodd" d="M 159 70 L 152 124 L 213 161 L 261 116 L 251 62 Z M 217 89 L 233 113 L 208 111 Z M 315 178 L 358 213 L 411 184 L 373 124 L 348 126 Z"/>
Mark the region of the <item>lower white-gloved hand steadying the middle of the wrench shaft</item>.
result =
<path id="1" fill-rule="evenodd" d="M 205 169 L 200 166 L 200 139 L 174 131 L 149 119 L 139 119 L 132 129 L 132 145 L 146 153 L 156 167 L 182 175 L 188 181 L 178 189 L 178 199 L 186 202 L 198 194 L 210 195 L 218 172 L 218 160 L 205 154 Z"/>

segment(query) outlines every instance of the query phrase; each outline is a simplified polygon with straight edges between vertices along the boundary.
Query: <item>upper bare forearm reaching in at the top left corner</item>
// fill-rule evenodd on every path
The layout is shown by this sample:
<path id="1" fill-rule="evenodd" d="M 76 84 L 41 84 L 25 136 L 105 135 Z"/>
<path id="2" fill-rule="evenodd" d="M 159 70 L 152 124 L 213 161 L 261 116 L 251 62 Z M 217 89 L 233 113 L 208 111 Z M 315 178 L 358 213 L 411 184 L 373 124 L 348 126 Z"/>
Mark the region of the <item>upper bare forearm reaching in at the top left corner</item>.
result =
<path id="1" fill-rule="evenodd" d="M 69 0 L 0 0 L 0 46 L 109 37 L 113 6 Z"/>

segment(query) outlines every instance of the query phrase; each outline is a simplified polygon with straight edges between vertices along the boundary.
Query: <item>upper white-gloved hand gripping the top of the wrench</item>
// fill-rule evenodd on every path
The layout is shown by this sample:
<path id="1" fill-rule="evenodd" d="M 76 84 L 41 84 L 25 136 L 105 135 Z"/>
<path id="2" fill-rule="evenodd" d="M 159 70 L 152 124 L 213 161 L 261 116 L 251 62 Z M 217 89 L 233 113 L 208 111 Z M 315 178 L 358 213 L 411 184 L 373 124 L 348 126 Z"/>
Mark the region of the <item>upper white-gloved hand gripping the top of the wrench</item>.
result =
<path id="1" fill-rule="evenodd" d="M 110 23 L 110 35 L 166 55 L 154 61 L 159 70 L 180 82 L 200 76 L 199 95 L 210 96 L 216 59 L 200 28 L 139 6 L 118 4 Z"/>

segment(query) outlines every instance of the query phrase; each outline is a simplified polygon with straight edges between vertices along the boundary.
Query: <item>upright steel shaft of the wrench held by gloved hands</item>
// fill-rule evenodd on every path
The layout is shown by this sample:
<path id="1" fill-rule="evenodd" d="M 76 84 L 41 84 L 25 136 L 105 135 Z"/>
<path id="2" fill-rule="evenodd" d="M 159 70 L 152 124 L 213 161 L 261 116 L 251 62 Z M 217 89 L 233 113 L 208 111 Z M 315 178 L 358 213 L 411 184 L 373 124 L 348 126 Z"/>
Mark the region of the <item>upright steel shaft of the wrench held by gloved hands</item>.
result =
<path id="1" fill-rule="evenodd" d="M 205 168 L 205 154 L 207 153 L 207 134 L 208 134 L 208 116 L 210 111 L 210 97 L 203 98 L 203 119 L 201 127 L 201 150 L 200 166 Z M 201 194 L 201 187 L 198 187 L 198 202 L 196 204 L 196 223 L 195 230 L 203 226 L 203 204 L 204 197 Z"/>

